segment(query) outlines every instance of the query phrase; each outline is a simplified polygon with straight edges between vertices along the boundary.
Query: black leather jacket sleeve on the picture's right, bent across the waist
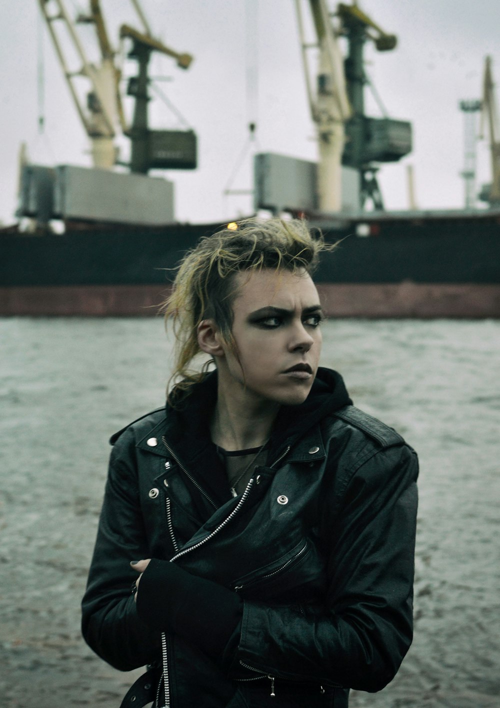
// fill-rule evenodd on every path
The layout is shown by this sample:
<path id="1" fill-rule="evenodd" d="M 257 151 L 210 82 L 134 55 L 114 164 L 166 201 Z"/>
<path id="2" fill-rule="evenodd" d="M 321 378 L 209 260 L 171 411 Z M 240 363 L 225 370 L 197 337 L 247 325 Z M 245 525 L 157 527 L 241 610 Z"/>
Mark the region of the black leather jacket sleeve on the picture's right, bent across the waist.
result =
<path id="1" fill-rule="evenodd" d="M 378 691 L 412 639 L 416 455 L 377 450 L 322 510 L 328 588 L 320 606 L 244 603 L 234 665 Z"/>

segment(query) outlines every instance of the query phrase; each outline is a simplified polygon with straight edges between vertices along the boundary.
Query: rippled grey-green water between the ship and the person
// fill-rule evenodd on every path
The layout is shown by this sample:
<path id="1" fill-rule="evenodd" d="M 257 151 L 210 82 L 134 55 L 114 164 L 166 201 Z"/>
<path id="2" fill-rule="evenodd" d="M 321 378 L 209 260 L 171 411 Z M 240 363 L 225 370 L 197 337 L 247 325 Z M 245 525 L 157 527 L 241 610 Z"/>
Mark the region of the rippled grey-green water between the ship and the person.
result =
<path id="1" fill-rule="evenodd" d="M 328 321 L 322 363 L 419 452 L 415 636 L 351 708 L 500 707 L 500 321 Z M 81 639 L 109 436 L 164 402 L 161 319 L 0 319 L 0 705 L 120 705 Z M 200 707 L 203 708 L 203 707 Z"/>

